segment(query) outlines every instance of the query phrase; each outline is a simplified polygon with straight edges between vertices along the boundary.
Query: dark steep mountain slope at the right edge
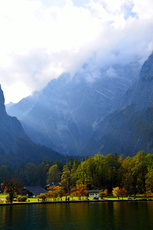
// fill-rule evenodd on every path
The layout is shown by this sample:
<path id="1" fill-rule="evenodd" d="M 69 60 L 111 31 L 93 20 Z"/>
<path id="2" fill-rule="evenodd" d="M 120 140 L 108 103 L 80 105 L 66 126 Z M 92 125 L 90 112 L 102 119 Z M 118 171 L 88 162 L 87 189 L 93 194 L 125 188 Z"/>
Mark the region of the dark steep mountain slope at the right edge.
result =
<path id="1" fill-rule="evenodd" d="M 129 155 L 140 150 L 153 152 L 153 53 L 125 94 L 122 107 L 99 124 L 84 153 Z"/>

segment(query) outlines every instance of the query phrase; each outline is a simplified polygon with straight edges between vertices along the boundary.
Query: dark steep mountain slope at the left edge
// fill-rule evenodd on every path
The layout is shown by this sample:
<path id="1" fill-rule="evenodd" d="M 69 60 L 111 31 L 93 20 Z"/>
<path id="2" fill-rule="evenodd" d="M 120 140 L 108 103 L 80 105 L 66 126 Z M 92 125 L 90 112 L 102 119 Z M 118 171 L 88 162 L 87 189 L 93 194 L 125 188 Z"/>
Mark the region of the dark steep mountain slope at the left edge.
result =
<path id="1" fill-rule="evenodd" d="M 63 158 L 57 152 L 33 143 L 25 134 L 16 117 L 7 115 L 4 95 L 0 86 L 0 162 L 16 164 L 24 161 L 39 162 Z"/>

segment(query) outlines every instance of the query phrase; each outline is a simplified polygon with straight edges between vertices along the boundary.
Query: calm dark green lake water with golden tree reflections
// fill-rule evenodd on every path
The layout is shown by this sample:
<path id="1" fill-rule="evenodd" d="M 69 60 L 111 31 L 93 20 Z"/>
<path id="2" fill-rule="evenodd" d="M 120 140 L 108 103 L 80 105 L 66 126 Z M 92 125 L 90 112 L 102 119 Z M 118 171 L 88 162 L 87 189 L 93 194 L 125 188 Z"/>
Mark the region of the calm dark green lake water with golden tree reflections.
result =
<path id="1" fill-rule="evenodd" d="M 153 230 L 153 202 L 1 206 L 0 229 Z"/>

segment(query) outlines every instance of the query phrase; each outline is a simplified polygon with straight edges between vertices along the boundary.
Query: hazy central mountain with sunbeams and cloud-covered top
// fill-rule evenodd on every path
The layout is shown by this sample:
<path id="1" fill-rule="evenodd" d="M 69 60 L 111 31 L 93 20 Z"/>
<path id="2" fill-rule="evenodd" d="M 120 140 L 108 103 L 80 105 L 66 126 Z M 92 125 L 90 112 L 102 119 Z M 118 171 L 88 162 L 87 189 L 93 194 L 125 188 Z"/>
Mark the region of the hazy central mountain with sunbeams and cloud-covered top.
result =
<path id="1" fill-rule="evenodd" d="M 62 74 L 37 94 L 7 109 L 17 116 L 36 143 L 77 155 L 101 121 L 120 108 L 125 92 L 137 80 L 138 62 L 91 69 L 86 63 L 71 77 Z"/>

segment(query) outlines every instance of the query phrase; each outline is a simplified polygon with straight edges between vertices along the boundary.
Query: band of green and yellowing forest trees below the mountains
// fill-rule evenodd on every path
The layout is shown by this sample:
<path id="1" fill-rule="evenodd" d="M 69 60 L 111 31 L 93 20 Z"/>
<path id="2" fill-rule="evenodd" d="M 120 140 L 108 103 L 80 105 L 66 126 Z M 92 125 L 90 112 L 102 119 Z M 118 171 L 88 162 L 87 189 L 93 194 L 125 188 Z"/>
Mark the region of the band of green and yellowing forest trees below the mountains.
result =
<path id="1" fill-rule="evenodd" d="M 77 184 L 84 184 L 88 189 L 108 189 L 118 186 L 128 193 L 153 191 L 153 154 L 145 151 L 135 156 L 124 157 L 97 154 L 81 161 L 68 158 L 61 161 L 26 162 L 21 166 L 0 166 L 0 182 L 7 177 L 19 178 L 23 185 L 41 185 L 61 182 L 65 190 Z"/>

